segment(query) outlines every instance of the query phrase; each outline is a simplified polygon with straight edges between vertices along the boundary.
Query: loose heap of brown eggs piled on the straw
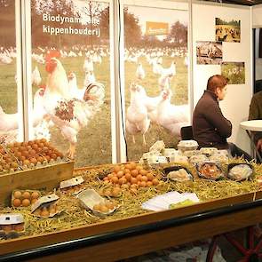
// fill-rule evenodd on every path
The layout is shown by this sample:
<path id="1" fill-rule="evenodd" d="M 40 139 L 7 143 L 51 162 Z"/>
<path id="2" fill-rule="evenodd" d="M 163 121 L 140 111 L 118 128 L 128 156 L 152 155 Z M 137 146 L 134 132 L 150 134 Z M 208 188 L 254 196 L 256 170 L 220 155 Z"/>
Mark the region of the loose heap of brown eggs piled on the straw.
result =
<path id="1" fill-rule="evenodd" d="M 123 188 L 151 187 L 159 184 L 152 172 L 134 162 L 115 165 L 113 171 L 103 180 Z"/>

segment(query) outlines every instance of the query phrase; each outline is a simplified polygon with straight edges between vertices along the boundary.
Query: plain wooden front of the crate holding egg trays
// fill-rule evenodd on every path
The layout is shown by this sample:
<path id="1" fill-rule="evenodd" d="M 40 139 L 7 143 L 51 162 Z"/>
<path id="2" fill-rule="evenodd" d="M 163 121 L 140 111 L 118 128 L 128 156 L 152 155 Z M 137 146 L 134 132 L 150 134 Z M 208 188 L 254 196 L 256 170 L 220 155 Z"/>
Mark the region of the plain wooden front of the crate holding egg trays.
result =
<path id="1" fill-rule="evenodd" d="M 73 177 L 74 162 L 57 163 L 34 170 L 0 175 L 0 204 L 9 204 L 12 190 L 41 189 L 52 190 L 60 181 Z"/>

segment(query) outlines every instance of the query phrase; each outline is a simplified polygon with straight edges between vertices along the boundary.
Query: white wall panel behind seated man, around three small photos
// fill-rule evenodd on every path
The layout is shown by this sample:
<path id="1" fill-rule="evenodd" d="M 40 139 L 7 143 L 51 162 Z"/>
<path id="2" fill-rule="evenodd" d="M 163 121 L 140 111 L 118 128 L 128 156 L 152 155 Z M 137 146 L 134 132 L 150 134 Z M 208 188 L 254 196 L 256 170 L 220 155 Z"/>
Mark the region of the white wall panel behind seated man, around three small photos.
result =
<path id="1" fill-rule="evenodd" d="M 223 20 L 241 20 L 241 43 L 222 44 L 223 61 L 245 62 L 245 84 L 231 84 L 227 87 L 226 99 L 220 102 L 223 114 L 233 124 L 233 135 L 229 141 L 250 152 L 250 140 L 240 123 L 249 115 L 252 87 L 250 79 L 251 65 L 251 11 L 250 7 L 233 4 L 193 4 L 193 90 L 194 105 L 206 89 L 211 75 L 221 74 L 218 65 L 196 64 L 196 41 L 215 41 L 215 18 Z"/>

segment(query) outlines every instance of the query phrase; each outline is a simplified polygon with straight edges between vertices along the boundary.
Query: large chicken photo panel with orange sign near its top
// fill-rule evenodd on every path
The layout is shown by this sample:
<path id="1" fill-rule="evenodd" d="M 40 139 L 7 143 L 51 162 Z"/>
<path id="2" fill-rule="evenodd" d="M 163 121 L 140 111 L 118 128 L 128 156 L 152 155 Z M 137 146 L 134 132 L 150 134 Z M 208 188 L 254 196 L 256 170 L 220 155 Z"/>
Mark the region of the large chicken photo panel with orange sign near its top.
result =
<path id="1" fill-rule="evenodd" d="M 125 5 L 125 138 L 129 160 L 156 140 L 176 147 L 189 125 L 188 12 Z"/>

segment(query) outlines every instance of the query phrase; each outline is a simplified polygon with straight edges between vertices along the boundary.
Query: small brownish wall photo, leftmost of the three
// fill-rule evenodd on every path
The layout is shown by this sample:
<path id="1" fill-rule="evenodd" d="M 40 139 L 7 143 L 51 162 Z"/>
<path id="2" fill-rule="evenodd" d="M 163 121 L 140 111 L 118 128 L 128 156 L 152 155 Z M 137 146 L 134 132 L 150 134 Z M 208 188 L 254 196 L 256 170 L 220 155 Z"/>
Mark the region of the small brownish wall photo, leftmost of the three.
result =
<path id="1" fill-rule="evenodd" d="M 222 42 L 196 42 L 196 63 L 199 65 L 221 65 Z"/>

